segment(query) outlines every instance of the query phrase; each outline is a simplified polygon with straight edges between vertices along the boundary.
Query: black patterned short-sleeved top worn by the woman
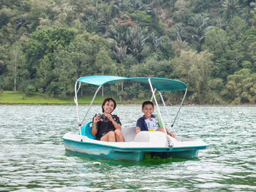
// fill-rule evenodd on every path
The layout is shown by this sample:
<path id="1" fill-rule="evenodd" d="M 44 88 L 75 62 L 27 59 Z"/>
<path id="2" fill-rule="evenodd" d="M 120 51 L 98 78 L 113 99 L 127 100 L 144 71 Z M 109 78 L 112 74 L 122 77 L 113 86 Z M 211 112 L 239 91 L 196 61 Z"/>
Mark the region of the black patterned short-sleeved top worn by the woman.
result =
<path id="1" fill-rule="evenodd" d="M 118 118 L 117 115 L 112 115 L 112 118 L 113 120 L 116 121 L 116 123 L 121 124 L 120 119 Z M 98 131 L 96 134 L 96 139 L 100 140 L 105 134 L 107 134 L 109 131 L 115 131 L 116 128 L 113 126 L 113 123 L 105 115 L 100 115 L 99 122 L 97 123 L 97 130 Z"/>

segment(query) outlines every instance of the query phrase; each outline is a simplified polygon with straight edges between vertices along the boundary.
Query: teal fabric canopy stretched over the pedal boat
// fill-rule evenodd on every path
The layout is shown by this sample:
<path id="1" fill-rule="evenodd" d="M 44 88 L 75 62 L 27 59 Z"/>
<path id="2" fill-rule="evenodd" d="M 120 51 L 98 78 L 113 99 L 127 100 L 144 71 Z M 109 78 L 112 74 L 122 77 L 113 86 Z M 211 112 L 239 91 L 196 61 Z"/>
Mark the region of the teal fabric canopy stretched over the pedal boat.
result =
<path id="1" fill-rule="evenodd" d="M 118 82 L 123 80 L 132 80 L 149 84 L 148 79 L 151 80 L 151 84 L 158 91 L 175 91 L 184 90 L 187 85 L 184 82 L 178 80 L 170 80 L 165 78 L 157 77 L 117 77 L 117 76 L 88 76 L 80 77 L 79 82 L 85 82 L 91 85 L 105 85 L 106 83 Z"/>

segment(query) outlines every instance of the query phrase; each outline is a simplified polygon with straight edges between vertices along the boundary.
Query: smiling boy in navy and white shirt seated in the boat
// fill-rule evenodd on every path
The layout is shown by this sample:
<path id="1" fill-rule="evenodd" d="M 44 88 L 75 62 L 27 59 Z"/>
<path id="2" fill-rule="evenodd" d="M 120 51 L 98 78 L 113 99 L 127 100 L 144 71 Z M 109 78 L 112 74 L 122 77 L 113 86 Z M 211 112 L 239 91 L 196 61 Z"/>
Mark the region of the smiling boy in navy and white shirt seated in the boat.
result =
<path id="1" fill-rule="evenodd" d="M 140 131 L 162 131 L 165 132 L 163 127 L 158 127 L 158 118 L 156 118 L 153 114 L 154 112 L 154 104 L 151 101 L 144 101 L 142 104 L 141 111 L 144 113 L 143 117 L 137 120 L 136 124 L 136 134 Z M 170 132 L 166 128 L 167 134 L 171 137 L 175 137 L 175 135 Z"/>

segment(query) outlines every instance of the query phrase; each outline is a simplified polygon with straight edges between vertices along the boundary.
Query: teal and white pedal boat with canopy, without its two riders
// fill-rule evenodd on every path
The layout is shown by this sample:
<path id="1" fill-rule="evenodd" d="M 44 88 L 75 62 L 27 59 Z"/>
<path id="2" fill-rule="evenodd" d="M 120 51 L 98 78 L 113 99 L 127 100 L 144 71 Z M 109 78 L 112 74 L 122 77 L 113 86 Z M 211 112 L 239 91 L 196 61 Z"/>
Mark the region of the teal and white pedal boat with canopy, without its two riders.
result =
<path id="1" fill-rule="evenodd" d="M 161 91 L 177 91 L 184 90 L 184 96 L 178 107 L 178 112 L 181 109 L 181 105 L 187 94 L 187 85 L 184 82 L 178 80 L 170 80 L 165 78 L 157 77 L 116 77 L 116 76 L 88 76 L 80 77 L 75 83 L 75 104 L 78 112 L 78 91 L 80 89 L 81 83 L 88 83 L 91 85 L 97 85 L 97 91 L 94 94 L 94 98 L 97 92 L 106 83 L 114 83 L 124 80 L 130 80 L 135 82 L 146 83 L 150 85 L 152 97 L 157 106 L 159 123 L 163 127 L 165 126 L 165 121 L 162 120 L 162 114 L 159 110 L 159 105 L 155 96 L 155 91 L 159 92 L 159 96 L 162 99 L 162 104 L 165 106 L 164 99 L 162 97 Z M 79 82 L 79 87 L 78 87 Z M 88 114 L 89 109 L 86 112 Z M 165 106 L 167 112 L 167 107 Z M 135 125 L 130 127 L 122 127 L 121 131 L 124 135 L 125 142 L 102 142 L 96 140 L 91 134 L 92 122 L 84 123 L 86 115 L 83 118 L 82 123 L 80 123 L 79 112 L 78 112 L 78 127 L 79 131 L 69 132 L 64 134 L 61 138 L 64 140 L 64 147 L 67 153 L 72 155 L 82 155 L 91 158 L 105 158 L 110 160 L 121 160 L 121 161 L 142 161 L 146 154 L 150 154 L 151 157 L 159 158 L 197 158 L 198 150 L 205 150 L 208 146 L 206 142 L 201 139 L 187 139 L 178 137 L 173 124 L 178 116 L 176 113 L 175 118 L 170 122 L 173 133 L 176 135 L 177 139 L 167 135 L 167 132 L 161 131 L 140 131 L 140 133 L 135 133 Z M 169 114 L 168 120 L 170 121 Z"/>

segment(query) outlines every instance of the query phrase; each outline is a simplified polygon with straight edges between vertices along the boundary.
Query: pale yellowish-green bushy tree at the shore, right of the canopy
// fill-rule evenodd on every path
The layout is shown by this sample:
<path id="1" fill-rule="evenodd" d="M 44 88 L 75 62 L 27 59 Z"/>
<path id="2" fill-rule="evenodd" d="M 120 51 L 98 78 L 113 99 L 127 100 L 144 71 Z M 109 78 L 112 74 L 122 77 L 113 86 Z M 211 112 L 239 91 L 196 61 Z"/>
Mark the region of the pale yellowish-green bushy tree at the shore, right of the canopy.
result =
<path id="1" fill-rule="evenodd" d="M 189 101 L 205 104 L 217 100 L 208 87 L 213 65 L 211 54 L 181 51 L 180 57 L 173 58 L 171 62 L 174 65 L 173 74 L 188 85 Z"/>

